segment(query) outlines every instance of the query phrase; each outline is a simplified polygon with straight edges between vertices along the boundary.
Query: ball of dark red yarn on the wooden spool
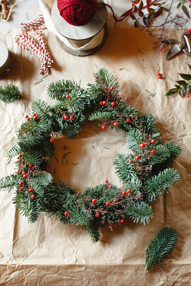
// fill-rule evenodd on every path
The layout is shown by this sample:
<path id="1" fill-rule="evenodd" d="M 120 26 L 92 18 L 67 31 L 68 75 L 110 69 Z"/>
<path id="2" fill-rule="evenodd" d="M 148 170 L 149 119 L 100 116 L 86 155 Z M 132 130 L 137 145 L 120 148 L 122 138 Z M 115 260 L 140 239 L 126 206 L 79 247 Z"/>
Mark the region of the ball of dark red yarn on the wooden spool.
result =
<path id="1" fill-rule="evenodd" d="M 97 0 L 58 0 L 60 15 L 70 25 L 86 25 L 97 11 Z"/>

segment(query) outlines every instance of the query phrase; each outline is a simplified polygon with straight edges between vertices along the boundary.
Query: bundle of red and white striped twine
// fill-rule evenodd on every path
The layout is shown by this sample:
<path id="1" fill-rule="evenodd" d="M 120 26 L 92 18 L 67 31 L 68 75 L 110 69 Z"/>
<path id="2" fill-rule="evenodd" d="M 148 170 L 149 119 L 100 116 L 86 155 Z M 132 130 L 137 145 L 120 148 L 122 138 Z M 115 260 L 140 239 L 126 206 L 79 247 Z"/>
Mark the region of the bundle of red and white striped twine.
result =
<path id="1" fill-rule="evenodd" d="M 19 47 L 21 47 L 21 49 L 24 49 L 25 51 L 28 51 L 29 53 L 40 58 L 42 63 L 40 74 L 46 74 L 48 72 L 48 68 L 52 68 L 54 61 L 50 58 L 49 51 L 44 43 L 44 39 L 41 34 L 42 30 L 46 29 L 43 15 L 40 14 L 33 21 L 26 24 L 19 23 L 19 25 L 22 25 L 21 31 L 23 31 L 23 33 L 15 36 L 15 42 Z M 40 31 L 36 32 L 35 29 L 40 29 Z M 29 30 L 31 30 L 34 35 L 37 36 L 39 44 L 37 44 L 34 39 L 26 32 Z M 16 40 L 16 37 L 18 36 L 20 40 L 19 42 Z"/>

